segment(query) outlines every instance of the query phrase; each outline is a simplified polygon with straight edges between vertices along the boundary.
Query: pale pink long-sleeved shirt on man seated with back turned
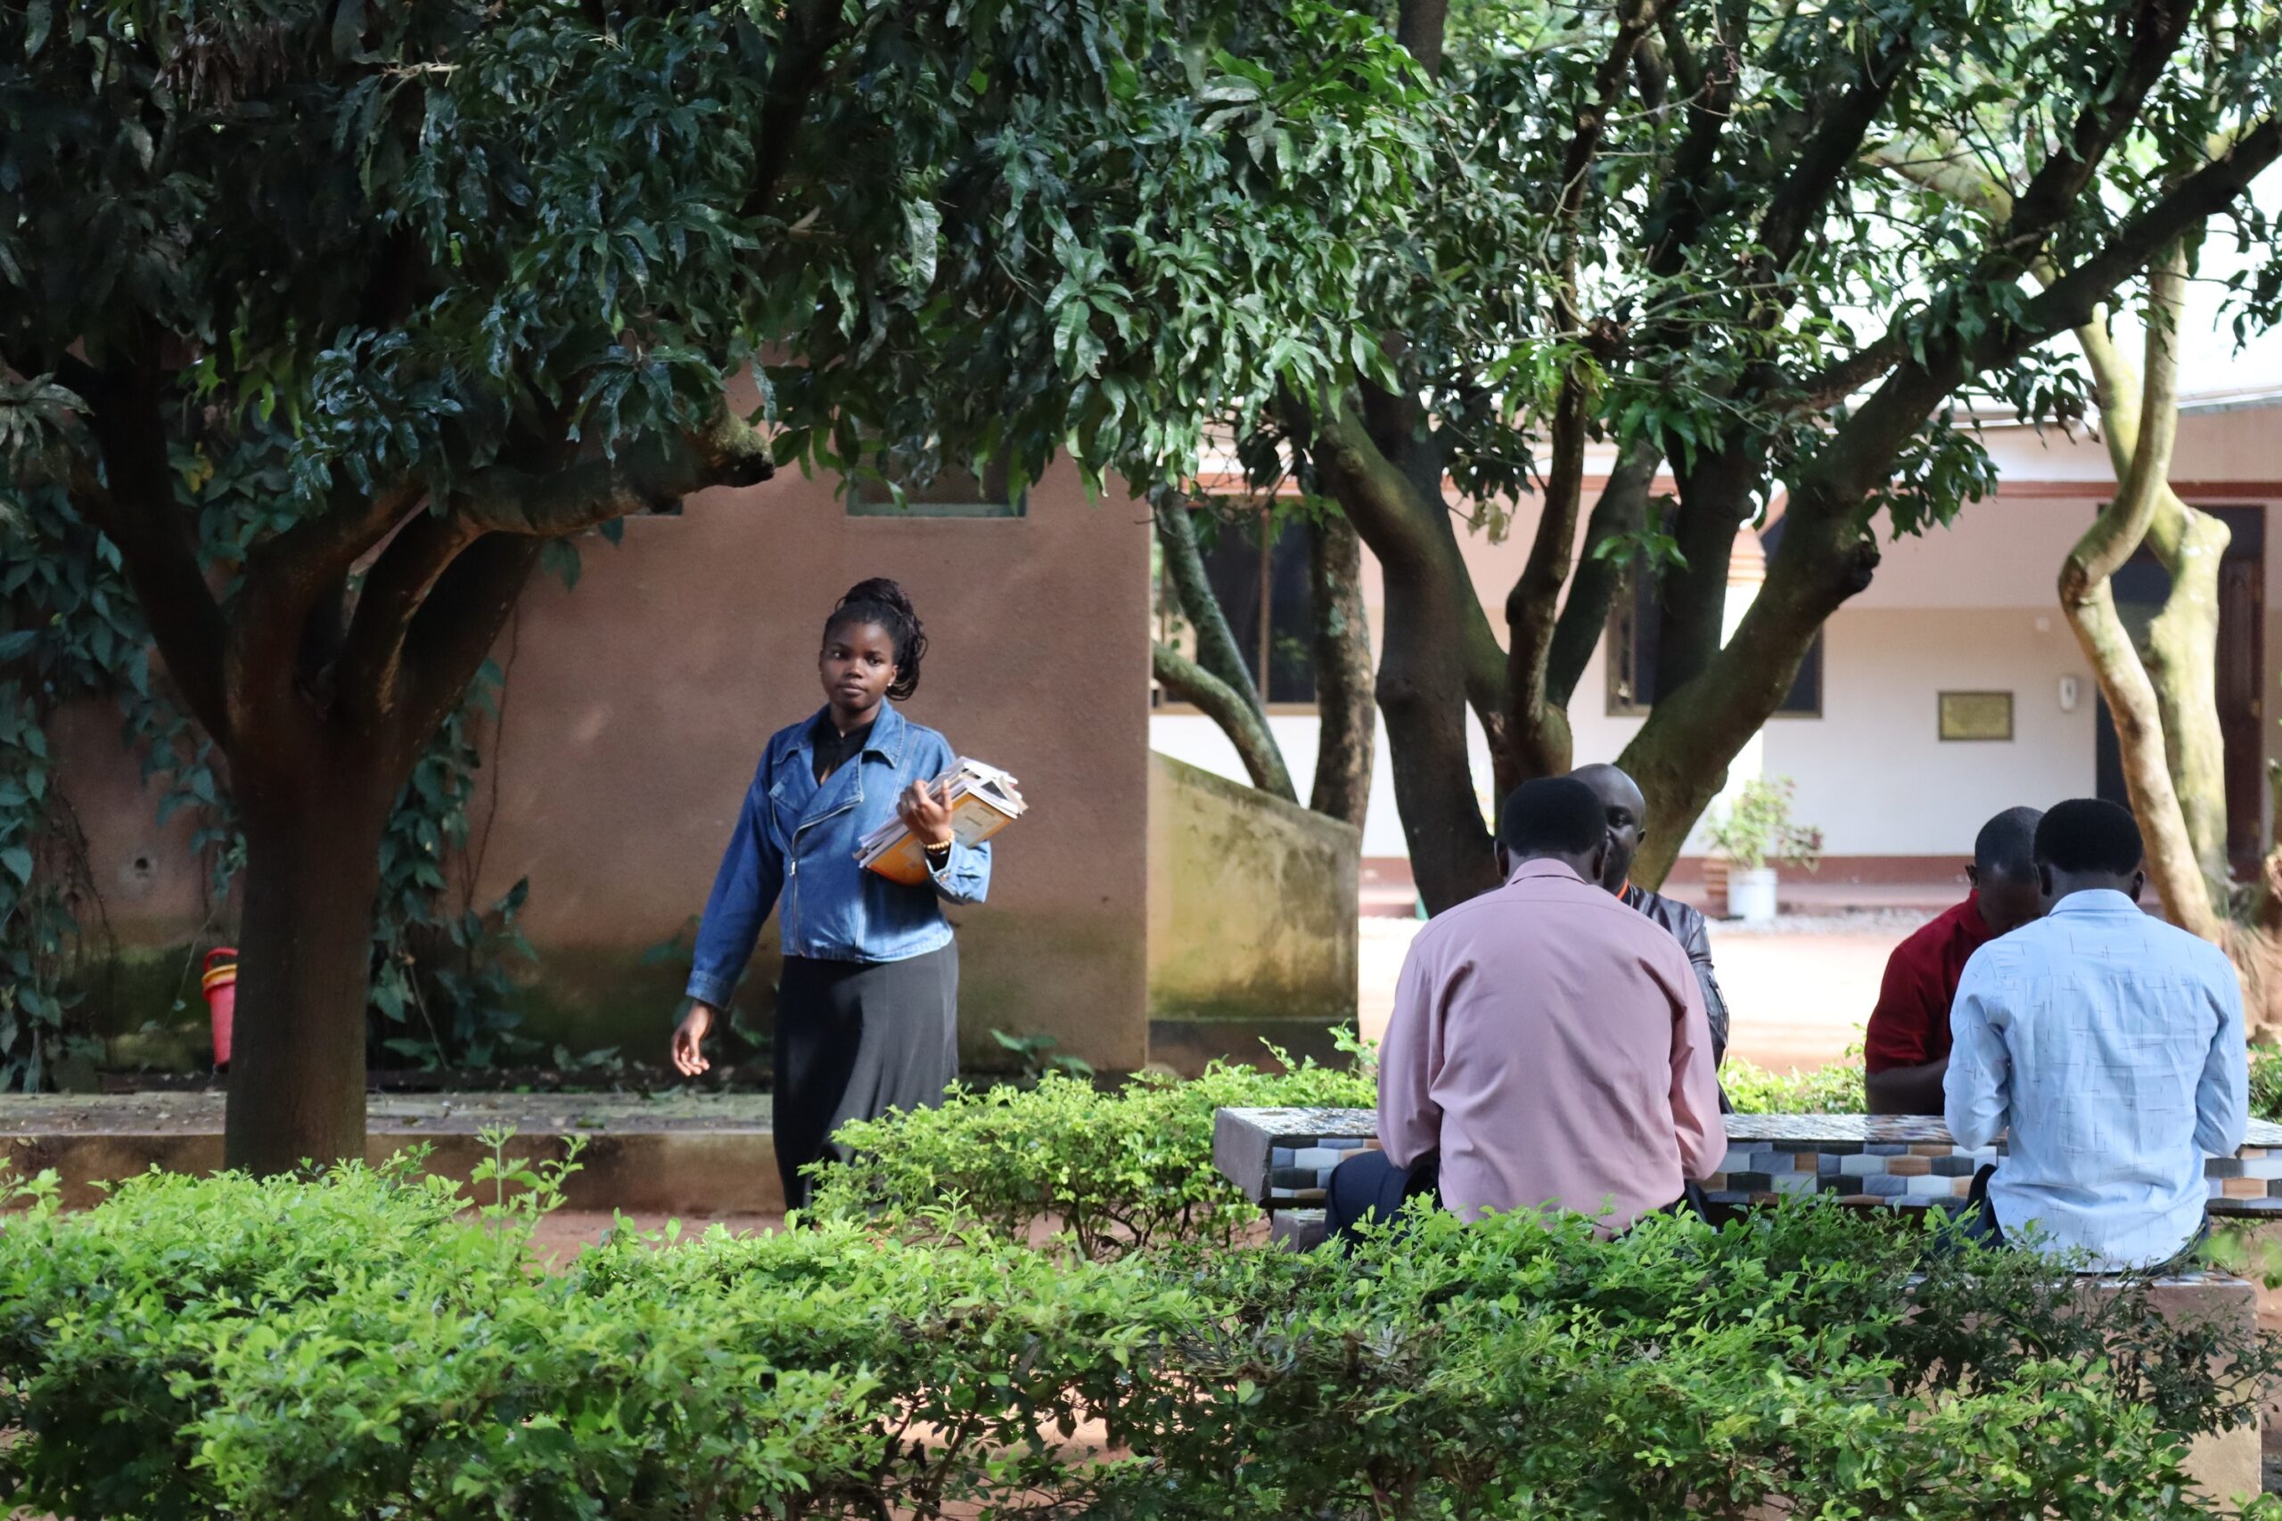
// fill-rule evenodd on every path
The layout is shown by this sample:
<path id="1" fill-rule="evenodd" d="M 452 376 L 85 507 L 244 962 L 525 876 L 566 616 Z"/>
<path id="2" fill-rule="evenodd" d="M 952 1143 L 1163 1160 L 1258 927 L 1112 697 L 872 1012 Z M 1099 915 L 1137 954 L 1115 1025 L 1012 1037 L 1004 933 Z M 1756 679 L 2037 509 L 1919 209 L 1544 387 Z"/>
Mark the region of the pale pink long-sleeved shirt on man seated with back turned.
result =
<path id="1" fill-rule="evenodd" d="M 1559 1206 L 1620 1231 L 1727 1154 L 1712 1024 L 1661 926 L 1534 860 L 1410 942 L 1378 1051 L 1378 1138 L 1442 1152 L 1465 1218 Z"/>

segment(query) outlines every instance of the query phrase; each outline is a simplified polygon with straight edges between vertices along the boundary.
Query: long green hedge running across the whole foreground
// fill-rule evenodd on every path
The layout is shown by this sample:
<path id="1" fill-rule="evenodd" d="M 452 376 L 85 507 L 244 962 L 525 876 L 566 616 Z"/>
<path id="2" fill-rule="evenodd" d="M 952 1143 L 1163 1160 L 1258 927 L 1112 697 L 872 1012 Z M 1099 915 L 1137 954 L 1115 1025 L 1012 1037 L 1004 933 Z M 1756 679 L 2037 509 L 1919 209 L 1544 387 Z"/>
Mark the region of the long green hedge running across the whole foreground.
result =
<path id="1" fill-rule="evenodd" d="M 11 1218 L 0 1503 L 2163 1521 L 2214 1514 L 2184 1443 L 2275 1368 L 2141 1291 L 2095 1309 L 2033 1256 L 1816 1204 L 1613 1243 L 1431 1215 L 1353 1256 L 621 1231 L 557 1275 L 443 1204 L 345 1168 Z"/>

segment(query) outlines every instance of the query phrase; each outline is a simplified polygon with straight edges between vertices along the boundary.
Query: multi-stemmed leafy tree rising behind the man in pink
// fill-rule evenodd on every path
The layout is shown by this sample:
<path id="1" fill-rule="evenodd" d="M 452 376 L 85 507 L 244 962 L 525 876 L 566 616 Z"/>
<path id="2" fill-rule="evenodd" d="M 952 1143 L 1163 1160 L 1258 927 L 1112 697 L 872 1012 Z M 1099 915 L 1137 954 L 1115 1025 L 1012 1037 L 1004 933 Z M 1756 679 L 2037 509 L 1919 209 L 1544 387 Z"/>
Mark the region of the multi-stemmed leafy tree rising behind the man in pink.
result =
<path id="1" fill-rule="evenodd" d="M 1623 757 L 1654 878 L 1880 538 L 1990 488 L 1963 408 L 2081 417 L 2049 340 L 2214 217 L 2271 242 L 2245 196 L 2282 153 L 2266 5 L 1403 0 L 1392 30 L 1435 89 L 1417 208 L 1367 246 L 1383 342 L 1335 401 L 1232 426 L 1255 483 L 1296 472 L 1387 572 L 1378 698 L 1431 905 L 1490 873 L 1465 714 L 1499 789 L 1565 768 L 1627 575 L 1659 577 L 1654 711 Z M 2245 322 L 2275 280 L 2236 280 Z M 1616 467 L 1586 502 L 1591 442 Z M 1502 607 L 1445 490 L 1492 534 L 1536 497 Z M 1723 641 L 1737 529 L 1771 509 L 1769 581 Z"/>

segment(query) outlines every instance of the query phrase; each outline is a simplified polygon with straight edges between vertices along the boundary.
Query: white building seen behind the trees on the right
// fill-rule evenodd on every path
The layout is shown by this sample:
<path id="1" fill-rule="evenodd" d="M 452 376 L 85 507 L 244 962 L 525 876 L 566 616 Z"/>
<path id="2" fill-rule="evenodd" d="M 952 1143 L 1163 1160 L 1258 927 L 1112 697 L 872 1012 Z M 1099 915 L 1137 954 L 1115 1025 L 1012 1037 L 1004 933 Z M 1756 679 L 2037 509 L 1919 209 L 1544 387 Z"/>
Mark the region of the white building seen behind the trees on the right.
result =
<path id="1" fill-rule="evenodd" d="M 2207 347 L 2209 353 L 2188 356 L 2188 388 L 2200 374 L 2232 390 L 2191 395 L 2172 486 L 2195 506 L 2223 509 L 2234 529 L 2223 572 L 2220 705 L 2234 848 L 2255 855 L 2266 839 L 2266 764 L 2282 759 L 2282 725 L 2264 714 L 2266 693 L 2282 673 L 2282 627 L 2266 618 L 2268 600 L 2282 597 L 2282 556 L 2266 547 L 2268 511 L 2282 504 L 2282 363 L 2275 363 L 2282 347 L 2266 344 L 2277 353 L 2264 365 L 2234 356 L 2232 344 L 2216 337 Z M 2122 796 L 2120 775 L 2099 757 L 2104 721 L 2090 666 L 2054 593 L 2063 556 L 2113 493 L 2106 449 L 2097 438 L 2017 424 L 1990 424 L 1985 442 L 1999 465 L 1997 495 L 1969 504 L 1949 529 L 1885 545 L 1869 591 L 1823 629 L 1819 673 L 1794 693 L 1803 711 L 1778 716 L 1759 737 L 1764 775 L 1791 778 L 1798 819 L 1823 830 L 1826 882 L 1949 880 L 1969 855 L 1974 832 L 2004 807 Z M 1597 481 L 1586 490 L 1591 506 Z M 1769 527 L 1775 524 L 1780 502 Z M 1504 540 L 1465 545 L 1492 623 L 1531 534 L 1534 515 L 1524 504 Z M 1739 572 L 1748 559 L 1737 556 Z M 1269 579 L 1289 586 L 1282 563 L 1271 563 Z M 2118 577 L 2127 616 L 2134 602 L 2159 600 L 2161 588 L 2161 570 L 2145 559 Z M 1365 597 L 1376 652 L 1383 593 L 1369 561 Z M 1271 607 L 1276 602 L 1271 593 Z M 1237 625 L 1257 627 L 1257 591 Z M 1611 643 L 1602 641 L 1570 705 L 1579 762 L 1613 759 L 1641 725 L 1611 693 Z M 2001 727 L 2010 737 L 1944 739 L 1944 693 L 1976 693 L 1965 702 L 1983 721 L 2001 718 L 2008 707 L 2010 721 Z M 1271 725 L 1305 791 L 1314 766 L 1312 707 L 1276 702 Z M 1193 711 L 1159 709 L 1150 743 L 1209 771 L 1244 775 L 1235 748 Z M 1488 787 L 1488 746 L 1479 732 L 1474 750 L 1476 780 Z M 1406 876 L 1383 734 L 1362 853 L 1381 876 Z M 1689 853 L 1698 855 L 1700 841 L 1691 841 Z M 1684 860 L 1680 876 L 1689 871 Z"/>

